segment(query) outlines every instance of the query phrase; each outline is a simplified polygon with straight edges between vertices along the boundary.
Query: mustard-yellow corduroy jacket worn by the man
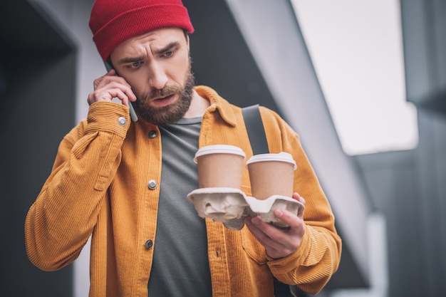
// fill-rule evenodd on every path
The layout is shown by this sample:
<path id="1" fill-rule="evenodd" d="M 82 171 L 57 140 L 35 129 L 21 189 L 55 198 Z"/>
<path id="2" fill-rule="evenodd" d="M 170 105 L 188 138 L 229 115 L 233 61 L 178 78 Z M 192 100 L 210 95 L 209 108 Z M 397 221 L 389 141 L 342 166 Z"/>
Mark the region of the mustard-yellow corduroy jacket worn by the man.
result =
<path id="1" fill-rule="evenodd" d="M 241 109 L 211 88 L 195 89 L 211 103 L 199 147 L 236 145 L 248 159 L 252 150 Z M 273 276 L 316 293 L 340 261 L 333 213 L 298 135 L 271 110 L 261 108 L 261 116 L 270 152 L 289 152 L 296 160 L 294 190 L 306 199 L 306 232 L 299 249 L 274 260 L 246 227 L 234 231 L 206 219 L 212 296 L 274 296 Z M 88 117 L 63 138 L 51 175 L 28 211 L 31 262 L 46 271 L 61 269 L 91 236 L 89 296 L 147 297 L 160 189 L 147 182 L 160 182 L 161 162 L 157 126 L 131 122 L 123 105 L 93 103 Z M 247 170 L 242 184 L 250 195 Z"/>

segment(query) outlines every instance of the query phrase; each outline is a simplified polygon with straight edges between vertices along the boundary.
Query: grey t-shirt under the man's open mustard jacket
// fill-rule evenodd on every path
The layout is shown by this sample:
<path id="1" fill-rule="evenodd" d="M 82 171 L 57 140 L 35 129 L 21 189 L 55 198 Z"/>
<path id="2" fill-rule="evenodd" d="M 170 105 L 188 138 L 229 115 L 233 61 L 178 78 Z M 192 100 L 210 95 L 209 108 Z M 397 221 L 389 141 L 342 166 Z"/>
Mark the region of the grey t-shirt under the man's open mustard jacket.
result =
<path id="1" fill-rule="evenodd" d="M 204 219 L 187 194 L 198 188 L 202 118 L 183 118 L 160 127 L 162 172 L 149 297 L 212 296 Z"/>

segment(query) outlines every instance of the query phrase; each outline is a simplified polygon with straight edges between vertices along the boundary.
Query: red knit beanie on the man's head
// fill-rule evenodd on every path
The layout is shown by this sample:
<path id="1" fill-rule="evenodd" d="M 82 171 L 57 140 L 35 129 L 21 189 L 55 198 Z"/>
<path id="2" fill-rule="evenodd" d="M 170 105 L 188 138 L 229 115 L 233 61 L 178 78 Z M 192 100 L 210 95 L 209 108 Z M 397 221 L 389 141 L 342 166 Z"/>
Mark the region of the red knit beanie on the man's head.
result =
<path id="1" fill-rule="evenodd" d="M 96 0 L 89 25 L 104 61 L 116 46 L 133 36 L 167 27 L 194 31 L 181 0 Z"/>

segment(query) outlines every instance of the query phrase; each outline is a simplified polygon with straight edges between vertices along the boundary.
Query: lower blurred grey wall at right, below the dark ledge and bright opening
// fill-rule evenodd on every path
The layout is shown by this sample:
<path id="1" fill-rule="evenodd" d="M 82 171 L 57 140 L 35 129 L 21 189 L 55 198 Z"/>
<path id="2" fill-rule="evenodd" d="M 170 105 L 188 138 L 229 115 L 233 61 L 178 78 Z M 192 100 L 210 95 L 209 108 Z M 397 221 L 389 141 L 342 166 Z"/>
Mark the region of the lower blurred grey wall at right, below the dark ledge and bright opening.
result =
<path id="1" fill-rule="evenodd" d="M 446 296 L 446 115 L 419 110 L 420 145 L 355 157 L 388 226 L 388 296 Z"/>

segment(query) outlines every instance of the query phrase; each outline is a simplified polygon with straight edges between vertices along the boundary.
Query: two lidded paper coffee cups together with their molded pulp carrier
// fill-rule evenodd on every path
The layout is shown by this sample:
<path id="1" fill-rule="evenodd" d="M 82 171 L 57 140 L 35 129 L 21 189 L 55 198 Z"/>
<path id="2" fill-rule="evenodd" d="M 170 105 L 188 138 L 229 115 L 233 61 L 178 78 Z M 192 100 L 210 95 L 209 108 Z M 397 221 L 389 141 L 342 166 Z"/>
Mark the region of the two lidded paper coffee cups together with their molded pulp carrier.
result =
<path id="1" fill-rule="evenodd" d="M 187 195 L 199 217 L 242 229 L 244 217 L 258 215 L 279 228 L 288 227 L 274 216 L 275 209 L 297 214 L 304 204 L 292 198 L 296 162 L 287 152 L 254 155 L 247 161 L 252 197 L 240 189 L 246 155 L 232 145 L 209 145 L 195 155 L 199 189 Z"/>

